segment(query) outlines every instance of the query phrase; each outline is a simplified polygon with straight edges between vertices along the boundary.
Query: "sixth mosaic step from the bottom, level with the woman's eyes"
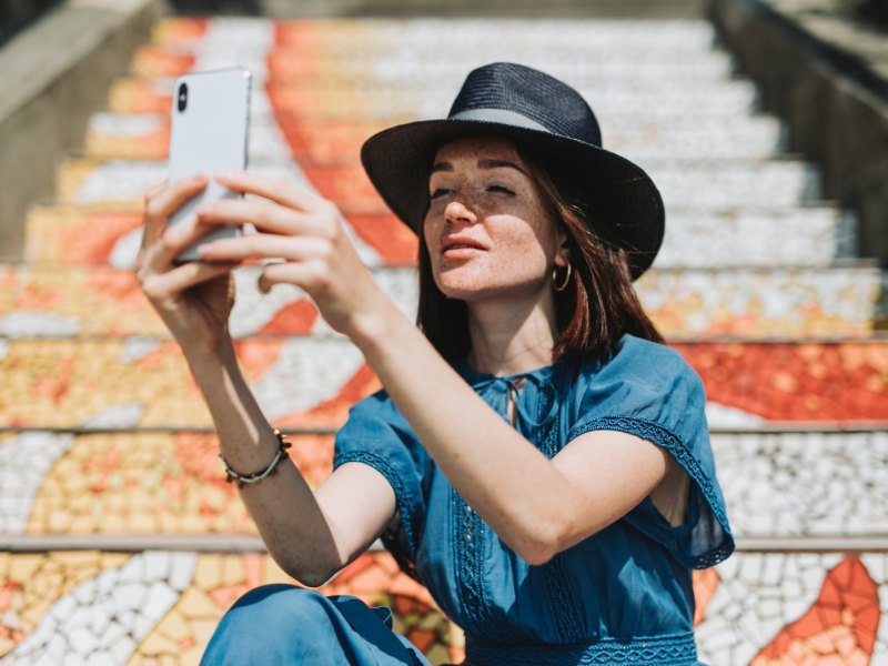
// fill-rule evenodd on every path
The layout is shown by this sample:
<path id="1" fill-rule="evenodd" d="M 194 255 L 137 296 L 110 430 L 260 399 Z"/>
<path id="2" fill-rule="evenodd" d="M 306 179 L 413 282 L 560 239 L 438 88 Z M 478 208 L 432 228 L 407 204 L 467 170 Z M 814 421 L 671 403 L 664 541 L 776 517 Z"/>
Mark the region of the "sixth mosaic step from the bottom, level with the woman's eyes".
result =
<path id="1" fill-rule="evenodd" d="M 669 210 L 785 209 L 816 202 L 816 170 L 803 162 L 725 162 L 714 169 L 705 162 L 643 164 Z M 346 215 L 380 215 L 385 204 L 360 167 L 304 167 L 293 162 L 254 163 L 258 173 L 313 188 L 335 202 Z M 60 167 L 58 200 L 63 204 L 141 205 L 144 191 L 167 179 L 167 163 L 138 160 L 71 158 Z"/>

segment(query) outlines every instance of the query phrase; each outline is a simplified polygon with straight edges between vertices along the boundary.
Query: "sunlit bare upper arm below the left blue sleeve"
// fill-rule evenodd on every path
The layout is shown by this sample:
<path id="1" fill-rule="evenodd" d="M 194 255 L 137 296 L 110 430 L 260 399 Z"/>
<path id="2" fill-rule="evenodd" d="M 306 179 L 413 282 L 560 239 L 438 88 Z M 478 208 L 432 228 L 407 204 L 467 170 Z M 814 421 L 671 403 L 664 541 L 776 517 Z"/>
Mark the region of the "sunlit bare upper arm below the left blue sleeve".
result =
<path id="1" fill-rule="evenodd" d="M 395 493 L 385 476 L 356 462 L 336 467 L 314 495 L 343 566 L 380 537 L 397 508 Z"/>

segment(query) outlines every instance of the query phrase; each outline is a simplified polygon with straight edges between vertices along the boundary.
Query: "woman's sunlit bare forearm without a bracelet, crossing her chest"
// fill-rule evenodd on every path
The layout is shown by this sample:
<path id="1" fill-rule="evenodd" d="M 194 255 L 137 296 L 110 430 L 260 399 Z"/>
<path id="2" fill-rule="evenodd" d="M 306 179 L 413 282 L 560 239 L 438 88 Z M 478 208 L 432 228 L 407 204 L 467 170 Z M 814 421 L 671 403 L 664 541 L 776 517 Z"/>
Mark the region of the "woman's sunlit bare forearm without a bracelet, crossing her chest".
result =
<path id="1" fill-rule="evenodd" d="M 405 317 L 385 313 L 353 336 L 401 413 L 465 501 L 513 549 L 545 559 L 565 506 L 584 502 L 561 472 L 438 355 Z"/>

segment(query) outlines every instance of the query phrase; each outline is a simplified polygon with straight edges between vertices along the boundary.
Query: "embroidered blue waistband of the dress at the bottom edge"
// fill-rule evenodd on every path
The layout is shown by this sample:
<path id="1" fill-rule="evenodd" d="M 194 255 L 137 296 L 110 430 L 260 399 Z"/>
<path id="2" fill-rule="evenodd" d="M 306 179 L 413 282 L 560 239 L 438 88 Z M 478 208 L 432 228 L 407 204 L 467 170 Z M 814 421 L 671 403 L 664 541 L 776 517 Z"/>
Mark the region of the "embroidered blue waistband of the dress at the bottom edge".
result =
<path id="1" fill-rule="evenodd" d="M 466 636 L 466 663 L 472 666 L 690 666 L 697 664 L 694 634 L 636 640 L 603 638 L 586 645 L 490 645 Z"/>

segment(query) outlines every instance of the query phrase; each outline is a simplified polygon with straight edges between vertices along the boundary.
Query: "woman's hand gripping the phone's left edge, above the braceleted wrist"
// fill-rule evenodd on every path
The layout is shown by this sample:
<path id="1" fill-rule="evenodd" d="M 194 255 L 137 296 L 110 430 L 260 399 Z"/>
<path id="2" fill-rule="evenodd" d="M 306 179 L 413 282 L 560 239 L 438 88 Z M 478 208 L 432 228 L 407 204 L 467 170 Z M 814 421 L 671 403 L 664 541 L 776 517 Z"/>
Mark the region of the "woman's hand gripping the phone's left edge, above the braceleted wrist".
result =
<path id="1" fill-rule="evenodd" d="M 200 194 L 206 183 L 206 176 L 196 175 L 145 192 L 145 229 L 135 275 L 183 351 L 214 355 L 230 341 L 228 322 L 234 304 L 231 271 L 238 264 L 176 264 L 175 258 L 214 225 L 202 224 L 193 215 L 169 226 L 172 214 Z"/>

